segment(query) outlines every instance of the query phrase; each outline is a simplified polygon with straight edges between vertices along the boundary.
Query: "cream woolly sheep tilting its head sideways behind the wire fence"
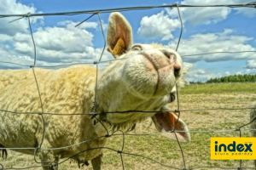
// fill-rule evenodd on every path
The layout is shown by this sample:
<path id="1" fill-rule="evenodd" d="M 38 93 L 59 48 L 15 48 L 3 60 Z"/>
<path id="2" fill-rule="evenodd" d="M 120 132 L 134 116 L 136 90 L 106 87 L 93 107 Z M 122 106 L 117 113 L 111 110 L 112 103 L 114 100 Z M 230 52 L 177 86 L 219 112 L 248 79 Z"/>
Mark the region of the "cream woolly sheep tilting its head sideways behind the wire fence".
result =
<path id="1" fill-rule="evenodd" d="M 133 44 L 131 26 L 119 13 L 110 14 L 107 42 L 108 52 L 113 54 L 115 60 L 99 72 L 97 85 L 97 70 L 93 66 L 77 65 L 58 70 L 34 68 L 44 112 L 90 113 L 93 108 L 100 113 L 96 117 L 108 130 L 127 130 L 137 122 L 152 117 L 159 132 L 176 127 L 179 131 L 186 131 L 177 132 L 177 139 L 188 142 L 190 134 L 187 125 L 170 110 L 161 112 L 168 111 L 166 105 L 174 101 L 177 88 L 183 87 L 184 71 L 180 55 L 157 44 Z M 39 148 L 44 130 L 42 116 L 7 112 L 42 112 L 33 72 L 1 70 L 0 75 L 0 109 L 4 110 L 0 112 L 0 144 L 6 148 Z M 131 112 L 108 113 L 114 111 Z M 104 146 L 108 138 L 95 139 L 106 135 L 106 129 L 94 120 L 90 115 L 44 114 L 44 141 L 42 150 L 37 150 L 43 168 L 55 169 L 49 161 L 57 163 L 61 158 L 88 150 L 73 156 L 73 159 L 85 163 L 91 161 L 93 169 L 100 170 L 102 150 L 89 149 Z M 164 135 L 176 139 L 173 133 Z M 43 150 L 89 139 L 94 140 L 66 149 Z M 35 150 L 15 151 L 33 155 Z"/>

